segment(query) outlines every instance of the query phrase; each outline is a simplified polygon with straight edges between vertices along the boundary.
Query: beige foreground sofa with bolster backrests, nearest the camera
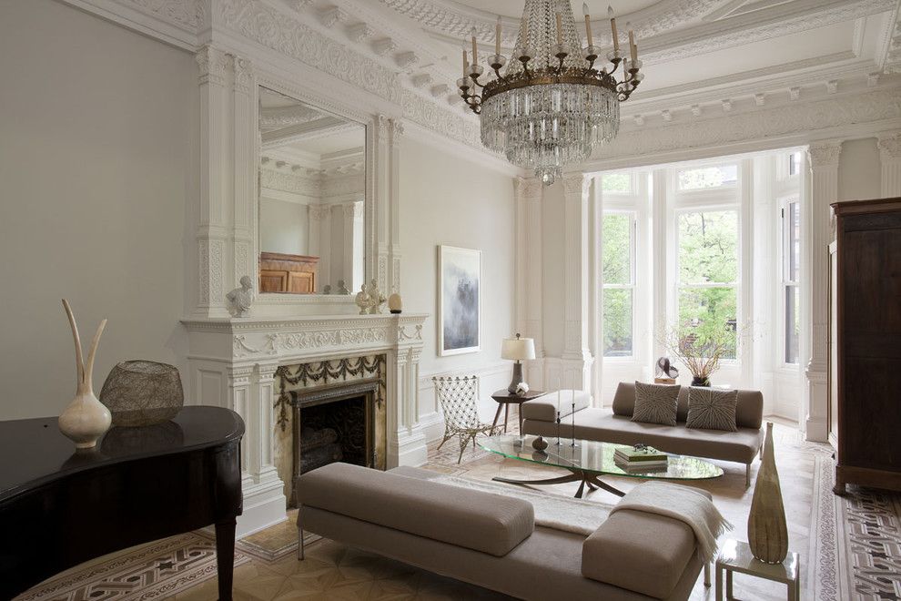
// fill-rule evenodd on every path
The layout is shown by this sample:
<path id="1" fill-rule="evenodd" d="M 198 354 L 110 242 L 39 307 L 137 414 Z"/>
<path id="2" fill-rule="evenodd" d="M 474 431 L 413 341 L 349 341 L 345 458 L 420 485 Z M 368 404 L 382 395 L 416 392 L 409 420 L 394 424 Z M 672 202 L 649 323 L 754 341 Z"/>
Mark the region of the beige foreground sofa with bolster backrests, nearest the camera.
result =
<path id="1" fill-rule="evenodd" d="M 299 558 L 307 531 L 522 599 L 687 599 L 701 571 L 681 521 L 622 510 L 586 538 L 535 525 L 528 501 L 430 482 L 439 475 L 347 463 L 303 474 Z"/>

